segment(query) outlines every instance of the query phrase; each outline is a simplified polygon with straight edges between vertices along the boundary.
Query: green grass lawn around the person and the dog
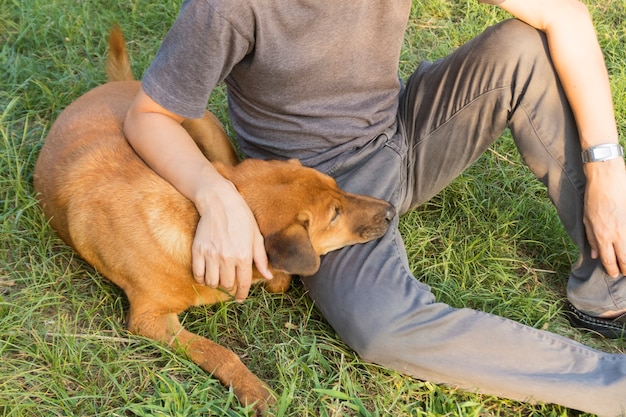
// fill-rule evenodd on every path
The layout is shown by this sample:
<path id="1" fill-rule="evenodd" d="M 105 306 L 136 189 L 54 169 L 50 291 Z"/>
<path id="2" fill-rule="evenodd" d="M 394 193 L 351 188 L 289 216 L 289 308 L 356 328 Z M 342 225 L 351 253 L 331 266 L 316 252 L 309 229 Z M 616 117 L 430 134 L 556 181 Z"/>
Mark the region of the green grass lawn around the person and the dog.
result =
<path id="1" fill-rule="evenodd" d="M 626 131 L 626 8 L 589 2 Z M 601 3 L 601 4 L 600 4 Z M 0 0 L 0 414 L 246 415 L 193 363 L 124 329 L 126 300 L 63 245 L 32 194 L 50 123 L 105 79 L 106 35 L 119 23 L 136 75 L 150 62 L 179 0 Z M 401 70 L 436 59 L 504 15 L 473 1 L 424 0 L 407 30 Z M 223 89 L 210 107 L 225 120 Z M 560 315 L 576 253 L 542 187 L 505 135 L 450 187 L 401 224 L 412 268 L 437 297 L 595 347 Z M 219 340 L 269 382 L 277 416 L 567 416 L 570 410 L 476 395 L 364 363 L 301 285 L 255 289 L 243 305 L 195 308 L 192 331 Z"/>

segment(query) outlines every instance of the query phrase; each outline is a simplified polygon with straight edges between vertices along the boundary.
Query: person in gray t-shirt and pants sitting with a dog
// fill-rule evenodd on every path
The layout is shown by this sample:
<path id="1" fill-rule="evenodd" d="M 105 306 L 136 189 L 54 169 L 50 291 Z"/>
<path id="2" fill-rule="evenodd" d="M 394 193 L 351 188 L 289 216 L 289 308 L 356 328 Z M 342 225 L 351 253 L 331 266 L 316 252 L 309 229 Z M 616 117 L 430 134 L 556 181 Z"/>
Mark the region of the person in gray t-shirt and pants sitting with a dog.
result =
<path id="1" fill-rule="evenodd" d="M 412 2 L 186 1 L 125 122 L 128 140 L 200 213 L 199 283 L 246 298 L 263 238 L 235 188 L 180 126 L 225 81 L 247 157 L 297 158 L 399 214 L 441 191 L 508 128 L 578 246 L 572 324 L 621 337 L 626 320 L 626 169 L 603 56 L 577 0 L 483 0 L 515 18 L 402 82 Z M 419 2 L 418 2 L 419 3 Z M 416 5 L 419 7 L 419 4 Z M 626 355 L 437 302 L 387 234 L 324 257 L 303 279 L 364 360 L 515 400 L 599 415 L 626 408 Z"/>

